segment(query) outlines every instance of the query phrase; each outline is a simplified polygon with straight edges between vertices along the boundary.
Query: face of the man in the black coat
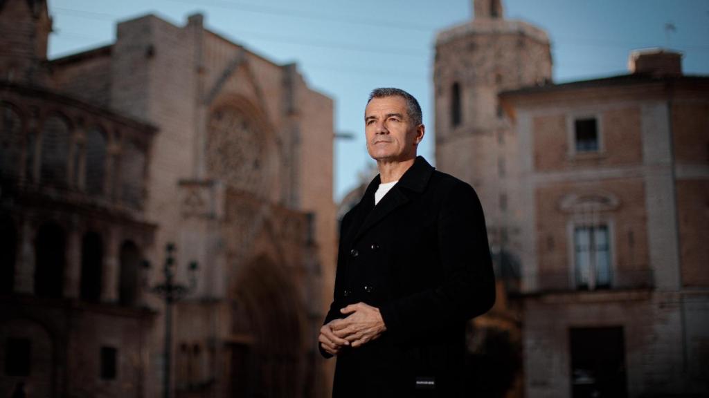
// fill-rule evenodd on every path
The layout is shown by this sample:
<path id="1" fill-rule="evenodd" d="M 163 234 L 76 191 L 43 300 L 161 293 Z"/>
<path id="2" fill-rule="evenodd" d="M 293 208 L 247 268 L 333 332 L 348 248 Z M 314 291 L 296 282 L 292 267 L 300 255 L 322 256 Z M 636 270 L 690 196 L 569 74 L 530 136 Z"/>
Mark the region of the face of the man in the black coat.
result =
<path id="1" fill-rule="evenodd" d="M 413 125 L 406 100 L 400 96 L 372 98 L 364 110 L 367 152 L 377 161 L 406 161 L 416 157 L 423 125 Z"/>

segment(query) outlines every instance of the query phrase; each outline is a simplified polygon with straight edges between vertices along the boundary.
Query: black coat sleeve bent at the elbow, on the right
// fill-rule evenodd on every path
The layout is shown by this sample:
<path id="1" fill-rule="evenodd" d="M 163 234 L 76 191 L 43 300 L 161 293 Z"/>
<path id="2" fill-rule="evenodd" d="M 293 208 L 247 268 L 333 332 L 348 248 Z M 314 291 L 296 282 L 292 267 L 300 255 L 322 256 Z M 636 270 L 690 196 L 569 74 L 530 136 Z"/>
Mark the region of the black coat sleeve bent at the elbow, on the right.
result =
<path id="1" fill-rule="evenodd" d="M 401 338 L 443 329 L 487 312 L 495 279 L 480 200 L 458 182 L 442 201 L 437 219 L 440 283 L 382 305 L 387 333 Z"/>

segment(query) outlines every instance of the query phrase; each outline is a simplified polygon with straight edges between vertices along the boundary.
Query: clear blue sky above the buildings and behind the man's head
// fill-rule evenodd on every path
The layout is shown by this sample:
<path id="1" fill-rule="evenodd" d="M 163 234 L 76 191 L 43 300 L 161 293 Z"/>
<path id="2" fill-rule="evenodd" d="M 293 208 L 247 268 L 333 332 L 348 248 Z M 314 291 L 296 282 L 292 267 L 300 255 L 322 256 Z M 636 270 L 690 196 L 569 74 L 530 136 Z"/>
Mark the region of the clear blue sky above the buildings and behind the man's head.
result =
<path id="1" fill-rule="evenodd" d="M 369 91 L 394 86 L 421 103 L 434 159 L 435 33 L 472 17 L 471 0 L 48 0 L 50 58 L 115 40 L 116 23 L 155 13 L 176 25 L 203 13 L 208 29 L 274 62 L 297 62 L 308 84 L 335 100 L 335 200 L 374 166 L 364 144 Z M 686 74 L 709 74 L 708 0 L 503 0 L 505 16 L 533 23 L 552 42 L 554 81 L 623 74 L 632 50 L 683 53 Z M 669 26 L 669 28 L 668 28 Z"/>

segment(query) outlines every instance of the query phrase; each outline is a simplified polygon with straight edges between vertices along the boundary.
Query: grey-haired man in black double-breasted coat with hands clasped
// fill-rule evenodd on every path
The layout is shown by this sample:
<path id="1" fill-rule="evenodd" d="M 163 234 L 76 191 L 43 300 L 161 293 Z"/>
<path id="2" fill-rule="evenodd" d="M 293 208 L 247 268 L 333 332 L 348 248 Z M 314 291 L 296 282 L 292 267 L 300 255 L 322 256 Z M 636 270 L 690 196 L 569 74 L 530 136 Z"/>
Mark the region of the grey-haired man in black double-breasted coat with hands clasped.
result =
<path id="1" fill-rule="evenodd" d="M 364 112 L 379 176 L 342 219 L 335 294 L 320 329 L 333 397 L 462 396 L 465 324 L 495 301 L 480 202 L 416 156 L 421 108 L 375 89 Z"/>

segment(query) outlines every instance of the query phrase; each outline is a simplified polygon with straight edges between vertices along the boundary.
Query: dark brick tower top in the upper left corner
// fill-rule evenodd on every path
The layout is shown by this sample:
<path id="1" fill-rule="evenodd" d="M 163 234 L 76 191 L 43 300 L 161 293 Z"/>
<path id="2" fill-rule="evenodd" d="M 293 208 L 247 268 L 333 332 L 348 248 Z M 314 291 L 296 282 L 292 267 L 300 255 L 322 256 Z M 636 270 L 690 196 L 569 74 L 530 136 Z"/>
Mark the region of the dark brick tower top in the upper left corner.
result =
<path id="1" fill-rule="evenodd" d="M 51 31 L 46 0 L 0 0 L 0 81 L 45 86 Z"/>

